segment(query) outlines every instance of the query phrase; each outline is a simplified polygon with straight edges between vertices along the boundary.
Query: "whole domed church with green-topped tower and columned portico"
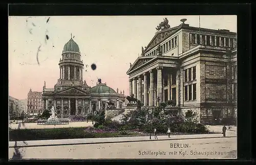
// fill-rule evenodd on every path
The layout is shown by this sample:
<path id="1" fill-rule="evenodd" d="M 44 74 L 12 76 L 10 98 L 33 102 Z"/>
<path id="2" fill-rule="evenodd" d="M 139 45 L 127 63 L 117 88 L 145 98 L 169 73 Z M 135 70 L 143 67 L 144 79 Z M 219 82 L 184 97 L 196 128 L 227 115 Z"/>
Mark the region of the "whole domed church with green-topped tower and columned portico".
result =
<path id="1" fill-rule="evenodd" d="M 83 81 L 83 61 L 77 43 L 71 39 L 65 44 L 62 58 L 59 61 L 59 79 L 54 88 L 42 91 L 45 109 L 54 106 L 57 116 L 84 115 L 96 110 L 105 110 L 107 103 L 112 101 L 116 108 L 124 106 L 124 92 L 118 93 L 113 88 L 98 81 L 96 86 L 90 87 Z"/>

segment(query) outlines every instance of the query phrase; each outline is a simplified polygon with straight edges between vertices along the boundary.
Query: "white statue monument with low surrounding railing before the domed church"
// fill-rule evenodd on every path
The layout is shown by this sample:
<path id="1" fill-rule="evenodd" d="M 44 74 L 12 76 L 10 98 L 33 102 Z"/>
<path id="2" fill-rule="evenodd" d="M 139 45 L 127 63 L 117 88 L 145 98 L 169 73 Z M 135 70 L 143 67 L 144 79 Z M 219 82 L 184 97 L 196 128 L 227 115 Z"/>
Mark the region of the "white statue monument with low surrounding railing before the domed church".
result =
<path id="1" fill-rule="evenodd" d="M 63 125 L 69 124 L 69 120 L 61 120 L 55 114 L 54 107 L 51 108 L 52 115 L 47 120 L 37 120 L 37 125 Z"/>

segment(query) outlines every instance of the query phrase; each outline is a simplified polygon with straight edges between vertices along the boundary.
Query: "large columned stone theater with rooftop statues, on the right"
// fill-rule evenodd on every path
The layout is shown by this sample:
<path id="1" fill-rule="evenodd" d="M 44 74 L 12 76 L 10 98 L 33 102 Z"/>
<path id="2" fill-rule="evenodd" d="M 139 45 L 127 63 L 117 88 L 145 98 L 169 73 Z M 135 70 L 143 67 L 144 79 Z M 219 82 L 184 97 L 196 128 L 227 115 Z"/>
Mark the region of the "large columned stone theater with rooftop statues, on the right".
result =
<path id="1" fill-rule="evenodd" d="M 197 112 L 201 122 L 236 116 L 237 33 L 160 23 L 150 43 L 127 70 L 130 95 L 144 106 L 169 100 L 170 112 Z M 162 26 L 161 26 L 162 25 Z M 158 27 L 159 27 L 158 26 Z"/>

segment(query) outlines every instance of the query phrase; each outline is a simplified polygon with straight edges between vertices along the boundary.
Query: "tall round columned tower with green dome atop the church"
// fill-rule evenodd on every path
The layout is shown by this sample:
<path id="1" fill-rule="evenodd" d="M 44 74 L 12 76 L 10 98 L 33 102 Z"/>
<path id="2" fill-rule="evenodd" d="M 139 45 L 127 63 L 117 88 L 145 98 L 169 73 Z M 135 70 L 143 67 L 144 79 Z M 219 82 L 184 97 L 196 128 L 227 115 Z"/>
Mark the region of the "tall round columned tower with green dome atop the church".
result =
<path id="1" fill-rule="evenodd" d="M 64 45 L 59 61 L 59 85 L 80 86 L 83 84 L 83 62 L 77 43 L 72 39 Z"/>

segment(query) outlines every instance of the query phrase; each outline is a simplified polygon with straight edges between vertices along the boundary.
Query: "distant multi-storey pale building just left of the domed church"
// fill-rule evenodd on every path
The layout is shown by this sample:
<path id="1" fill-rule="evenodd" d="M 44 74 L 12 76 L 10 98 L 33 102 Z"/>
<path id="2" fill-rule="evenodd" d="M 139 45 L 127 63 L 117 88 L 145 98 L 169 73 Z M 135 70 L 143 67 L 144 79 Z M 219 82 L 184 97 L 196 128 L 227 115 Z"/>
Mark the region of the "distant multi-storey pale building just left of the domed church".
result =
<path id="1" fill-rule="evenodd" d="M 28 113 L 29 115 L 37 115 L 44 109 L 44 102 L 42 101 L 42 93 L 39 91 L 28 92 Z"/>

